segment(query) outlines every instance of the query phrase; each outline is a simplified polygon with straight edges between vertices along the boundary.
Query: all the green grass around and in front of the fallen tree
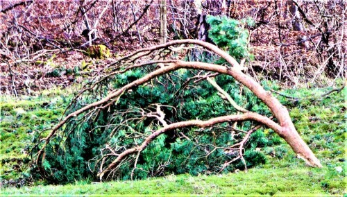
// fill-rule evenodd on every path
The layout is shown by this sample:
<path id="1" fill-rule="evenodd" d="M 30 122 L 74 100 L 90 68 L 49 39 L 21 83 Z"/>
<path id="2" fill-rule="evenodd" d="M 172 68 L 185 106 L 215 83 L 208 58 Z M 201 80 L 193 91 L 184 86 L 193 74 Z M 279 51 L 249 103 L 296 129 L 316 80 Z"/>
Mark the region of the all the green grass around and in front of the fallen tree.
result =
<path id="1" fill-rule="evenodd" d="M 165 196 L 189 195 L 266 195 L 266 196 L 341 196 L 346 194 L 346 100 L 342 92 L 320 95 L 331 89 L 286 89 L 282 94 L 299 99 L 292 102 L 278 97 L 290 111 L 301 137 L 323 164 L 322 169 L 305 166 L 291 148 L 281 144 L 262 148 L 267 162 L 250 169 L 222 175 L 169 175 L 148 180 L 91 182 L 72 185 L 43 185 L 32 182 L 28 171 L 29 147 L 34 135 L 58 123 L 71 99 L 68 89 L 35 92 L 29 96 L 0 96 L 0 196 L 98 195 L 115 194 Z M 5 185 L 16 185 L 5 187 Z"/>

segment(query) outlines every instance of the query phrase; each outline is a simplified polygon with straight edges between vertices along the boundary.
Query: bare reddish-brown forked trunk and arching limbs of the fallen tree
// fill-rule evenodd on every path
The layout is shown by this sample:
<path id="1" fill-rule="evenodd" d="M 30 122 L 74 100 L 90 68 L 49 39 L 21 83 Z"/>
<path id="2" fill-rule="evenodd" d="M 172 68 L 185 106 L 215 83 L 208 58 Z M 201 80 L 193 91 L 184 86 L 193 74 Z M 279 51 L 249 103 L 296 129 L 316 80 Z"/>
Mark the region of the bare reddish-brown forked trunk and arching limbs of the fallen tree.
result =
<path id="1" fill-rule="evenodd" d="M 174 46 L 180 46 L 179 49 L 187 49 L 190 46 L 196 47 L 200 46 L 204 50 L 210 51 L 212 53 L 215 53 L 216 55 L 219 55 L 221 58 L 225 59 L 230 66 L 223 66 L 223 65 L 214 65 L 211 63 L 205 63 L 205 62 L 185 62 L 183 60 L 168 60 L 171 56 L 171 52 L 174 51 L 176 53 L 176 50 Z M 183 47 L 186 46 L 186 47 Z M 155 54 L 155 55 L 154 55 Z M 154 55 L 154 56 L 153 56 Z M 145 59 L 147 58 L 147 59 Z M 162 60 L 165 58 L 165 60 Z M 144 60 L 145 59 L 145 60 Z M 146 62 L 147 60 L 147 62 Z M 138 63 L 139 62 L 139 63 Z M 71 114 L 68 114 L 65 119 L 62 119 L 60 123 L 54 127 L 49 135 L 42 139 L 41 142 L 44 142 L 42 145 L 42 148 L 38 153 L 35 155 L 36 157 L 36 163 L 42 164 L 42 160 L 44 160 L 44 151 L 46 146 L 49 144 L 52 137 L 57 135 L 58 130 L 62 128 L 65 124 L 69 123 L 69 121 L 74 121 L 76 117 L 82 117 L 81 119 L 85 117 L 90 117 L 93 115 L 94 112 L 102 109 L 108 109 L 110 105 L 117 105 L 117 101 L 123 94 L 127 94 L 129 90 L 138 87 L 139 85 L 144 85 L 148 83 L 149 81 L 157 78 L 158 76 L 162 76 L 165 74 L 170 74 L 171 71 L 175 71 L 178 69 L 194 69 L 194 70 L 201 70 L 201 71 L 208 71 L 209 74 L 213 73 L 210 76 L 215 76 L 214 74 L 226 74 L 229 76 L 232 76 L 232 78 L 235 78 L 239 83 L 244 85 L 244 87 L 247 87 L 248 89 L 257 96 L 263 103 L 265 103 L 269 109 L 271 110 L 273 114 L 273 118 L 277 119 L 278 122 L 273 121 L 269 117 L 265 117 L 261 114 L 257 114 L 256 112 L 248 112 L 244 110 L 241 107 L 238 107 L 236 103 L 233 105 L 235 108 L 238 108 L 239 111 L 238 114 L 232 114 L 228 116 L 223 117 L 215 117 L 208 120 L 191 120 L 191 121 L 181 121 L 176 123 L 167 123 L 164 120 L 164 113 L 160 110 L 160 104 L 157 104 L 157 108 L 155 112 L 150 112 L 146 114 L 144 110 L 142 111 L 142 116 L 151 116 L 158 119 L 158 122 L 162 124 L 162 127 L 158 130 L 155 130 L 151 132 L 150 135 L 145 136 L 143 139 L 142 144 L 138 144 L 137 146 L 133 148 L 124 148 L 123 151 L 118 152 L 117 154 L 110 154 L 111 157 L 115 157 L 112 162 L 109 164 L 105 164 L 104 166 L 104 159 L 101 160 L 101 165 L 99 168 L 99 178 L 102 180 L 103 178 L 107 177 L 105 175 L 110 175 L 112 171 L 115 171 L 117 169 L 117 166 L 121 164 L 122 161 L 124 161 L 127 157 L 130 155 L 138 155 L 143 151 L 146 146 L 151 144 L 153 142 L 153 139 L 158 137 L 159 135 L 162 135 L 165 132 L 168 132 L 169 130 L 174 130 L 177 128 L 185 128 L 185 127 L 198 127 L 198 128 L 210 128 L 213 126 L 217 126 L 219 123 L 223 122 L 241 122 L 241 121 L 256 121 L 257 123 L 260 123 L 260 125 L 264 125 L 268 128 L 271 128 L 274 130 L 280 137 L 285 139 L 285 141 L 291 146 L 293 151 L 296 153 L 298 157 L 305 160 L 305 162 L 310 166 L 315 167 L 321 167 L 321 163 L 316 158 L 314 153 L 310 150 L 310 148 L 305 144 L 303 139 L 301 139 L 300 135 L 296 131 L 296 128 L 294 127 L 294 124 L 291 121 L 291 118 L 289 117 L 289 113 L 287 109 L 281 105 L 281 103 L 271 95 L 271 92 L 267 92 L 264 90 L 264 88 L 253 78 L 250 76 L 244 74 L 242 71 L 244 70 L 244 67 L 241 67 L 239 63 L 232 58 L 228 53 L 225 51 L 222 51 L 217 46 L 214 46 L 213 44 L 209 44 L 207 42 L 199 41 L 199 40 L 177 40 L 173 42 L 167 42 L 166 44 L 160 44 L 158 46 L 152 46 L 146 49 L 140 49 L 138 51 L 135 51 L 135 53 L 131 53 L 130 55 L 126 55 L 124 58 L 121 58 L 117 62 L 113 63 L 112 65 L 108 65 L 108 74 L 105 74 L 103 78 L 99 78 L 96 80 L 94 85 L 89 87 L 89 89 L 93 89 L 95 86 L 100 85 L 101 81 L 105 80 L 105 78 L 108 78 L 109 76 L 124 73 L 124 71 L 135 68 L 135 67 L 145 67 L 146 65 L 158 65 L 156 69 L 149 72 L 149 74 L 146 74 L 146 76 L 139 78 L 137 80 L 134 80 L 131 83 L 128 83 L 127 85 L 124 85 L 123 87 L 119 89 L 112 90 L 108 96 L 105 96 L 103 99 L 96 101 L 94 103 L 91 103 L 89 105 L 85 105 L 83 108 L 76 110 L 75 112 L 72 112 Z M 122 69 L 120 69 L 122 67 Z M 125 69 L 124 69 L 125 67 Z M 205 76 L 202 76 L 203 80 L 208 78 L 209 74 L 206 74 Z M 209 79 L 210 80 L 210 79 Z M 210 83 L 213 83 L 212 80 L 210 80 Z M 220 87 L 214 86 L 218 89 L 219 92 L 223 92 Z M 86 91 L 86 89 L 82 90 L 82 92 Z M 83 95 L 78 94 L 78 96 Z M 223 92 L 223 96 L 226 96 L 226 92 Z M 228 96 L 226 96 L 228 97 Z M 230 99 L 228 99 L 230 101 Z M 83 116 L 81 116 L 83 114 Z M 81 120 L 80 119 L 80 120 Z M 235 128 L 234 128 L 235 129 Z M 256 129 L 255 129 L 256 130 Z M 235 131 L 239 131 L 235 129 Z M 242 149 L 244 146 L 244 143 L 248 140 L 248 137 L 251 135 L 251 133 L 254 131 L 249 130 L 248 132 L 245 132 L 246 135 L 244 138 L 237 144 L 234 144 L 228 148 L 228 150 L 236 150 L 239 151 L 238 157 L 236 159 L 243 160 L 242 157 Z M 187 138 L 185 135 L 183 137 Z M 189 138 L 188 138 L 189 139 Z M 216 147 L 218 148 L 218 147 Z M 208 151 L 206 151 L 206 154 L 209 154 Z M 108 155 L 108 156 L 110 156 Z M 235 159 L 235 160 L 236 160 Z M 232 160 L 234 161 L 234 160 Z M 230 162 L 232 162 L 230 161 Z M 136 162 L 137 159 L 135 159 L 135 166 L 136 168 Z M 224 166 L 222 166 L 222 169 L 225 168 L 230 162 L 226 163 Z"/>

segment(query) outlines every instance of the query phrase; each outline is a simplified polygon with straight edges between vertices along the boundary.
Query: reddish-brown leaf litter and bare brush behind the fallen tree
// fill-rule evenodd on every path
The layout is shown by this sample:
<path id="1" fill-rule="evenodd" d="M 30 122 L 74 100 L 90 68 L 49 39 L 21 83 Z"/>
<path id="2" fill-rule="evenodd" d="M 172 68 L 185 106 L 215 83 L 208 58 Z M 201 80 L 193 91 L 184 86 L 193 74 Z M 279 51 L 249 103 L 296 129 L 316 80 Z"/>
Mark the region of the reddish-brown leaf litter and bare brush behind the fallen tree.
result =
<path id="1" fill-rule="evenodd" d="M 194 1 L 168 2 L 169 40 L 197 38 Z M 344 75 L 346 2 L 298 1 L 303 31 L 294 31 L 285 1 L 226 1 L 227 7 L 222 2 L 202 1 L 201 14 L 254 20 L 248 31 L 255 58 L 247 66 L 255 78 L 261 74 L 298 85 L 324 84 L 325 76 Z M 107 60 L 92 60 L 83 53 L 90 39 L 111 49 L 115 59 L 158 44 L 158 8 L 157 0 L 1 1 L 1 92 L 65 87 L 97 74 Z M 90 38 L 88 29 L 96 32 Z"/>

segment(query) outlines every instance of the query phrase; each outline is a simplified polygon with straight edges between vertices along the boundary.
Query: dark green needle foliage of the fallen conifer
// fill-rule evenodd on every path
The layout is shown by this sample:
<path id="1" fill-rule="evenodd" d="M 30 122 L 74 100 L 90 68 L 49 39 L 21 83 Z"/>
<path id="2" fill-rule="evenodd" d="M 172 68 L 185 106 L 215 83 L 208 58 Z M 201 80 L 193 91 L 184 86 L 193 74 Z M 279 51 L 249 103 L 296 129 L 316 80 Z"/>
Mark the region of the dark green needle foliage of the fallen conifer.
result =
<path id="1" fill-rule="evenodd" d="M 248 34 L 239 26 L 239 22 L 225 18 L 209 18 L 211 36 L 218 46 L 229 51 L 237 58 L 248 57 Z M 235 30 L 230 30 L 230 26 Z M 219 34 L 220 30 L 224 33 Z M 151 66 L 135 68 L 108 78 L 100 89 L 85 92 L 82 97 L 74 100 L 67 113 L 74 112 L 88 103 L 98 101 L 108 94 L 110 89 L 118 89 L 151 71 Z M 196 76 L 197 71 L 180 69 L 170 75 L 160 76 L 150 83 L 140 85 L 132 91 L 123 94 L 109 108 L 75 117 L 56 136 L 46 148 L 44 169 L 33 172 L 44 175 L 49 182 L 74 182 L 85 178 L 96 178 L 99 166 L 107 166 L 115 157 L 104 157 L 107 154 L 121 153 L 126 148 L 137 146 L 144 142 L 144 136 L 160 129 L 161 125 L 153 117 L 142 117 L 142 110 L 153 111 L 155 103 L 162 105 L 168 123 L 187 121 L 191 119 L 206 120 L 227 114 L 236 114 L 230 103 L 221 99 L 217 90 L 206 80 L 198 83 L 185 83 Z M 217 83 L 232 96 L 240 106 L 247 110 L 270 114 L 266 105 L 257 99 L 248 89 L 240 89 L 230 76 L 219 75 Z M 242 92 L 240 92 L 242 91 Z M 154 110 L 155 111 L 155 110 Z M 92 116 L 90 114 L 93 114 Z M 238 123 L 237 129 L 250 130 L 257 125 L 252 121 Z M 230 123 L 221 123 L 213 128 L 183 128 L 167 132 L 157 137 L 139 155 L 137 168 L 133 171 L 135 156 L 124 160 L 113 178 L 128 180 L 142 179 L 151 176 L 168 175 L 171 173 L 219 173 L 244 169 L 241 161 L 231 164 L 225 169 L 221 166 L 237 157 L 238 153 L 226 153 L 217 147 L 228 147 L 244 137 L 245 133 L 230 130 Z M 180 135 L 185 134 L 185 137 Z M 269 139 L 255 132 L 246 144 L 244 158 L 248 166 L 264 164 L 265 157 L 257 147 L 271 144 Z M 37 147 L 39 148 L 39 147 Z M 215 151 L 213 151 L 215 149 Z M 112 150 L 112 151 L 110 151 Z M 35 151 L 35 150 L 34 150 Z M 44 173 L 42 173 L 44 171 Z"/>

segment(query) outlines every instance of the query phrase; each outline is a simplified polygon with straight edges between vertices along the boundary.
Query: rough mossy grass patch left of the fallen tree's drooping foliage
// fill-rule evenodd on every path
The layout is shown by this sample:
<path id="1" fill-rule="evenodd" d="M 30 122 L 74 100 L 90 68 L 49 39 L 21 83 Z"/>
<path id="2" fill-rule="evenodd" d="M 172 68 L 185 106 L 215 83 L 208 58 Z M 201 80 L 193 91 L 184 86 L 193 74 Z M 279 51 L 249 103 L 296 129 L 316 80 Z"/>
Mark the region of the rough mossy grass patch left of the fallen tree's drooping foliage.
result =
<path id="1" fill-rule="evenodd" d="M 67 106 L 66 91 L 37 96 L 0 96 L 0 180 L 28 178 L 33 137 L 54 126 Z"/>

